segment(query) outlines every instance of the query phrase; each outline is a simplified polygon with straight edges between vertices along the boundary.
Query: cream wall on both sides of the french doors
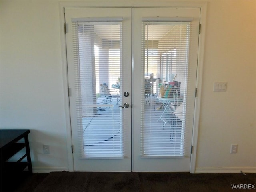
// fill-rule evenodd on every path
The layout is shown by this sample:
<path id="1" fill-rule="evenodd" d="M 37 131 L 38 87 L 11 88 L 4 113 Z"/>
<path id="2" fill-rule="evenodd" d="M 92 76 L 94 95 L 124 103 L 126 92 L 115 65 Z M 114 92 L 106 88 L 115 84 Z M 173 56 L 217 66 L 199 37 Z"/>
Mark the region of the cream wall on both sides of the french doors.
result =
<path id="1" fill-rule="evenodd" d="M 68 170 L 59 2 L 0 6 L 0 127 L 31 130 L 34 171 Z M 255 34 L 256 1 L 208 2 L 196 172 L 256 172 Z"/>

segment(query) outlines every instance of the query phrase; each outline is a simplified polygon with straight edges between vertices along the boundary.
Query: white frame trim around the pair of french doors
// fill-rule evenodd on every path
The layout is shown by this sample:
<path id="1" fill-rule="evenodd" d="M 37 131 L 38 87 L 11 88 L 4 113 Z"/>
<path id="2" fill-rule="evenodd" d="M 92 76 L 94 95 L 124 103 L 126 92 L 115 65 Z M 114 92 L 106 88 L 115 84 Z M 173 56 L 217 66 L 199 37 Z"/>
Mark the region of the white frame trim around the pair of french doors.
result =
<path id="1" fill-rule="evenodd" d="M 200 8 L 200 24 L 201 33 L 199 36 L 198 44 L 198 68 L 196 77 L 196 88 L 197 97 L 195 100 L 194 109 L 194 125 L 192 134 L 192 146 L 193 152 L 190 159 L 190 173 L 195 173 L 196 169 L 196 152 L 197 152 L 197 140 L 198 140 L 198 126 L 199 126 L 199 115 L 200 115 L 200 100 L 201 100 L 201 88 L 202 88 L 202 72 L 203 72 L 203 60 L 204 60 L 204 40 L 205 40 L 205 26 L 206 26 L 206 8 L 207 2 L 202 1 L 84 1 L 84 2 L 60 2 L 59 3 L 59 13 L 60 13 L 60 38 L 61 38 L 61 53 L 62 53 L 62 74 L 63 74 L 63 87 L 64 87 L 64 101 L 65 101 L 65 116 L 66 116 L 66 136 L 67 136 L 67 154 L 68 154 L 68 169 L 69 171 L 74 171 L 74 160 L 72 154 L 72 133 L 71 133 L 71 121 L 70 121 L 70 108 L 69 108 L 69 97 L 68 97 L 68 73 L 67 73 L 67 59 L 66 59 L 66 37 L 65 37 L 65 16 L 64 9 L 70 7 L 148 7 L 148 8 Z M 133 53 L 132 53 L 132 69 L 133 69 Z M 132 73 L 133 75 L 133 73 Z M 133 87 L 133 84 L 132 84 Z M 72 94 L 72 93 L 70 93 Z"/>

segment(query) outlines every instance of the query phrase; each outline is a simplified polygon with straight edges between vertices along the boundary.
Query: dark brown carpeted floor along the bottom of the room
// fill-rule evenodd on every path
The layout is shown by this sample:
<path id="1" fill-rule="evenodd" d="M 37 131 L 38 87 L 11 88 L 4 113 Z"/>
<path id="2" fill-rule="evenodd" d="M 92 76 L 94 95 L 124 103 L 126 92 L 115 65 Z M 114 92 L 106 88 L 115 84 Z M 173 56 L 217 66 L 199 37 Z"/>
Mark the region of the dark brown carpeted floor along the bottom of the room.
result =
<path id="1" fill-rule="evenodd" d="M 232 189 L 250 184 L 252 189 Z M 246 186 L 246 185 L 245 185 Z M 239 192 L 256 191 L 256 174 L 51 172 L 33 174 L 15 192 Z"/>

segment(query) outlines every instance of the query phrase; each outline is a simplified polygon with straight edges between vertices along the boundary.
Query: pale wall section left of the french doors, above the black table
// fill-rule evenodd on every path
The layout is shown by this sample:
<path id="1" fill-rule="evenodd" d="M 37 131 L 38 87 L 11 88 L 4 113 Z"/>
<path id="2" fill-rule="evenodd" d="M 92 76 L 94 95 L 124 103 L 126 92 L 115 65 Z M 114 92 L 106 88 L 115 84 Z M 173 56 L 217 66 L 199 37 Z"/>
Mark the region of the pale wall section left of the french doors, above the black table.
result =
<path id="1" fill-rule="evenodd" d="M 68 170 L 58 10 L 58 2 L 1 1 L 0 127 L 30 129 L 39 172 Z"/>

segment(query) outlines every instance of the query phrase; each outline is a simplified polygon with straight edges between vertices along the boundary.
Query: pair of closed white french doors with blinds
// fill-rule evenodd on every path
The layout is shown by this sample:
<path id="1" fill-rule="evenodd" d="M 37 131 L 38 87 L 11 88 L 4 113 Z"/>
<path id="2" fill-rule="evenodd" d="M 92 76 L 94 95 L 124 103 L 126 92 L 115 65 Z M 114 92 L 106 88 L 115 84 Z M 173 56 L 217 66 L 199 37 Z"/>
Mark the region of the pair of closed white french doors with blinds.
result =
<path id="1" fill-rule="evenodd" d="M 65 8 L 75 171 L 189 171 L 199 8 Z"/>

